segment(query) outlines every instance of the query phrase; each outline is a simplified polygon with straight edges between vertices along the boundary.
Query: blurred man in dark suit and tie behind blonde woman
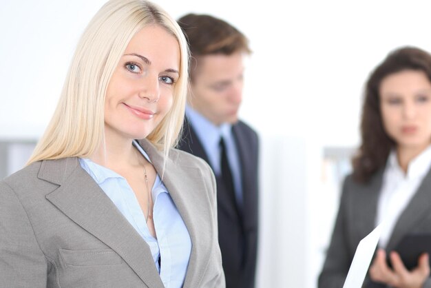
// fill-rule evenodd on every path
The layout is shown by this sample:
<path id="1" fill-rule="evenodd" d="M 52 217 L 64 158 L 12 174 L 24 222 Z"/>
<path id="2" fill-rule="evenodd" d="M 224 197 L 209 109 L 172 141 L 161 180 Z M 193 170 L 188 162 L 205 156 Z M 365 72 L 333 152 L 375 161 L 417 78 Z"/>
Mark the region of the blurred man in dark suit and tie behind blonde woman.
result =
<path id="1" fill-rule="evenodd" d="M 179 148 L 200 156 L 217 181 L 218 238 L 227 288 L 251 288 L 257 252 L 257 134 L 238 120 L 248 40 L 209 15 L 178 19 L 191 50 L 191 89 Z"/>

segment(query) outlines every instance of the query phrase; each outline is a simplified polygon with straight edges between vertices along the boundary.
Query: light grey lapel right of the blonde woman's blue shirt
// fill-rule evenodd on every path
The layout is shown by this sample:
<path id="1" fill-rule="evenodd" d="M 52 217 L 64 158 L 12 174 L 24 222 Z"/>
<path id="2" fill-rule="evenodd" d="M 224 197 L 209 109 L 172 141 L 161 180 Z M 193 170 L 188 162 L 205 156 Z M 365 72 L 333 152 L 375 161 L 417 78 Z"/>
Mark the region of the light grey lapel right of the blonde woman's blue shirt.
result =
<path id="1" fill-rule="evenodd" d="M 217 227 L 212 216 L 215 212 L 208 209 L 211 203 L 206 196 L 211 187 L 206 187 L 200 169 L 182 163 L 175 150 L 171 150 L 163 173 L 162 154 L 147 140 L 140 140 L 139 144 L 149 155 L 157 173 L 160 176 L 163 175 L 162 181 L 190 234 L 191 256 L 184 287 L 199 287 L 200 280 L 204 276 L 202 267 L 207 267 L 210 259 L 211 243 L 215 232 L 213 227 Z M 211 227 L 211 232 L 203 233 L 208 231 L 208 227 Z"/>

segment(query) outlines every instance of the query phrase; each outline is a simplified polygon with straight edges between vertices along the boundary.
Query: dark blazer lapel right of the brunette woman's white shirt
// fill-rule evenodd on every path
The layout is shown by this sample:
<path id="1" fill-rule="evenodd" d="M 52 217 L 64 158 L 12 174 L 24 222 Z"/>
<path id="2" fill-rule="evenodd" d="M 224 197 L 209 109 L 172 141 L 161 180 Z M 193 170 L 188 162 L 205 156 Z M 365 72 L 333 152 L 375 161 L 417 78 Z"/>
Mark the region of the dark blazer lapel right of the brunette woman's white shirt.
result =
<path id="1" fill-rule="evenodd" d="M 386 249 L 390 251 L 395 248 L 399 241 L 413 229 L 416 223 L 419 222 L 424 216 L 430 213 L 431 207 L 431 170 L 423 178 L 416 194 L 414 194 L 406 209 L 401 213 L 397 224 L 392 230 L 392 235 L 388 242 Z"/>

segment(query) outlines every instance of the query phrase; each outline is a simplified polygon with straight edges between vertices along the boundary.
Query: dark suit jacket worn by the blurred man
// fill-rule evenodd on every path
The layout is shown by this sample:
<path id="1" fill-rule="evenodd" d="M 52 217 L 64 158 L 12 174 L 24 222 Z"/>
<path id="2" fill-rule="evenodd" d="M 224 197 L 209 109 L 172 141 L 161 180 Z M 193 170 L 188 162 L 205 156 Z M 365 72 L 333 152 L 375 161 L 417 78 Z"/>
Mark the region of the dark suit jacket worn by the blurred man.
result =
<path id="1" fill-rule="evenodd" d="M 257 134 L 241 121 L 233 125 L 233 135 L 240 155 L 243 212 L 235 208 L 221 178 L 217 181 L 218 239 L 228 288 L 251 288 L 255 282 L 257 252 Z M 178 148 L 203 158 L 208 156 L 196 132 L 186 120 Z"/>

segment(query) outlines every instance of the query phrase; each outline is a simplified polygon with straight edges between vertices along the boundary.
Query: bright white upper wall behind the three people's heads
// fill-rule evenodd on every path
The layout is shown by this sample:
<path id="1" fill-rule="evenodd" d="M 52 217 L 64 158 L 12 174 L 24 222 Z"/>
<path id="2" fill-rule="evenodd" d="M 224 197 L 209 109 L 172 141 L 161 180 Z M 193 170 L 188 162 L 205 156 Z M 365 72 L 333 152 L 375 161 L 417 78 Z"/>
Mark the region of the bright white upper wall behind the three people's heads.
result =
<path id="1" fill-rule="evenodd" d="M 105 0 L 0 0 L 0 136 L 39 136 L 74 46 Z M 431 50 L 428 1 L 159 0 L 174 17 L 206 12 L 238 26 L 254 51 L 243 118 L 273 134 L 356 145 L 361 88 L 392 48 Z M 342 108 L 336 109 L 335 108 Z M 342 119 L 342 120 L 340 120 Z M 274 123 L 280 123 L 274 125 Z"/>

